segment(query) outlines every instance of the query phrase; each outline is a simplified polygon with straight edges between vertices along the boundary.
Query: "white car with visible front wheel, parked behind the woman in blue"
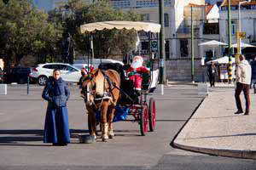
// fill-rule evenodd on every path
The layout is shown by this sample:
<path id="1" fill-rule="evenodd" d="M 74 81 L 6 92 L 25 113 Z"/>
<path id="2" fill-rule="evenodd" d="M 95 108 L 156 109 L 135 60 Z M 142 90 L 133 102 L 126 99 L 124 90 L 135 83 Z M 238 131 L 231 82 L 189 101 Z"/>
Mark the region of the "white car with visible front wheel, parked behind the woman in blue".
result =
<path id="1" fill-rule="evenodd" d="M 37 65 L 32 69 L 30 77 L 37 79 L 39 85 L 44 86 L 48 81 L 48 78 L 52 76 L 53 71 L 59 69 L 61 71 L 61 77 L 67 82 L 79 82 L 81 77 L 81 71 L 73 65 L 64 63 L 46 63 Z"/>

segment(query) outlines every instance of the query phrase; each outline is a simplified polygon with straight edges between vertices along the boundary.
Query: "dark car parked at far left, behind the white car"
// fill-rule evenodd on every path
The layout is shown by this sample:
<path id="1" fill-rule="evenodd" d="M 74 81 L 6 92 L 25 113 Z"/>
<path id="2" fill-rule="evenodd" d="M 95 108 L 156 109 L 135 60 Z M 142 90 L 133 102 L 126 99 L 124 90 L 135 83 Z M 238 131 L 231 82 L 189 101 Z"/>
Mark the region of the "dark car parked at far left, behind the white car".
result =
<path id="1" fill-rule="evenodd" d="M 6 74 L 6 79 L 8 83 L 17 82 L 19 84 L 24 84 L 27 82 L 27 77 L 31 73 L 31 68 L 29 67 L 15 67 L 10 69 L 9 73 Z"/>

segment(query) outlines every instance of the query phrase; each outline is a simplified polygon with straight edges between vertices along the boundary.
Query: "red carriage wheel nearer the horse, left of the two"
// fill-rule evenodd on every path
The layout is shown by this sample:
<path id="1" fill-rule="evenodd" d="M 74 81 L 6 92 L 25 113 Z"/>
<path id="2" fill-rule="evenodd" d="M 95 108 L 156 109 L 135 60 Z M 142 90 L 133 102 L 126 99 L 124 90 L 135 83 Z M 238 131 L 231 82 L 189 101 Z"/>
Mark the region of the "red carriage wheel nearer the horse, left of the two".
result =
<path id="1" fill-rule="evenodd" d="M 142 136 L 148 133 L 148 105 L 144 104 L 140 113 L 140 128 Z"/>

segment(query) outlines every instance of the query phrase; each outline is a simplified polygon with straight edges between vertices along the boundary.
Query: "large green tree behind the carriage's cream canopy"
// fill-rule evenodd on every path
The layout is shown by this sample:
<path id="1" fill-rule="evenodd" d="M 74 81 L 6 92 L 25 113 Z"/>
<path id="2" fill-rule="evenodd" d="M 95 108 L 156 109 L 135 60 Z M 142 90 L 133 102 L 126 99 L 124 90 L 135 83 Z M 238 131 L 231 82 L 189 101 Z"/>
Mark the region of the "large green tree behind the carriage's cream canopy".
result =
<path id="1" fill-rule="evenodd" d="M 122 12 L 110 6 L 108 1 L 97 1 L 87 4 L 81 0 L 70 0 L 63 7 L 67 9 L 62 26 L 65 32 L 69 32 L 75 42 L 75 48 L 80 54 L 88 53 L 89 34 L 80 34 L 79 27 L 86 23 L 107 20 L 141 20 L 140 15 L 130 12 Z M 63 16 L 56 14 L 55 16 Z M 54 16 L 52 16 L 54 18 Z M 136 31 L 111 30 L 96 31 L 93 34 L 96 57 L 108 58 L 112 54 L 124 55 L 135 48 L 137 41 Z"/>

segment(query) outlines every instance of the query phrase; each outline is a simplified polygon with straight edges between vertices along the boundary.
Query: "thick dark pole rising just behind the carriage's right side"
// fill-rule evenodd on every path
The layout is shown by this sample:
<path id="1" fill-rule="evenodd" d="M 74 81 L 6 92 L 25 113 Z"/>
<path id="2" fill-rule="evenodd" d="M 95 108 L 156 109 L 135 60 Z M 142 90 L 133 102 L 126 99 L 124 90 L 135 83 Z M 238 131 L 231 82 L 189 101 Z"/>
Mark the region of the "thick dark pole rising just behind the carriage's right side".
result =
<path id="1" fill-rule="evenodd" d="M 159 0 L 160 14 L 160 84 L 161 94 L 164 95 L 164 84 L 166 83 L 166 54 L 165 54 L 165 22 L 164 22 L 164 0 Z"/>

